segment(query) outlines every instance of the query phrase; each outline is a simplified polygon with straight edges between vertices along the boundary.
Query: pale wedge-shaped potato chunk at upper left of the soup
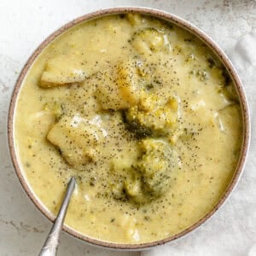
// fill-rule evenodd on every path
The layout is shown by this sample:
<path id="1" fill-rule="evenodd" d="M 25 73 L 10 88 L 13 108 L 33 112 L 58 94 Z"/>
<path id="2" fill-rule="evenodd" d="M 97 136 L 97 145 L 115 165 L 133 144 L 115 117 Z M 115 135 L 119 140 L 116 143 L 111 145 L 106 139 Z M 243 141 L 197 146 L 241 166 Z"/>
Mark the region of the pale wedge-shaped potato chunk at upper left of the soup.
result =
<path id="1" fill-rule="evenodd" d="M 41 77 L 41 87 L 50 88 L 55 86 L 81 83 L 88 73 L 84 65 L 75 57 L 60 55 L 46 63 Z"/>

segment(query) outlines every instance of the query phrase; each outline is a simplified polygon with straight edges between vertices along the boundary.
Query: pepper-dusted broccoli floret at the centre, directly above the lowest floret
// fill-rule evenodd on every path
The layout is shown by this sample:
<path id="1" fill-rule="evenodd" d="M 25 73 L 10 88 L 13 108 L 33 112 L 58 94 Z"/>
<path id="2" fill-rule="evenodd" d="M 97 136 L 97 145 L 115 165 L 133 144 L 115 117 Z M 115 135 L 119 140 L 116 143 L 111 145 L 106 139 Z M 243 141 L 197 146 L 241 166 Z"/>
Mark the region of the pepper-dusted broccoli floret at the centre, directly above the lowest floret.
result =
<path id="1" fill-rule="evenodd" d="M 158 96 L 144 96 L 140 102 L 125 111 L 124 119 L 129 131 L 137 137 L 160 137 L 170 134 L 177 123 L 178 102 L 170 98 L 160 102 Z"/>

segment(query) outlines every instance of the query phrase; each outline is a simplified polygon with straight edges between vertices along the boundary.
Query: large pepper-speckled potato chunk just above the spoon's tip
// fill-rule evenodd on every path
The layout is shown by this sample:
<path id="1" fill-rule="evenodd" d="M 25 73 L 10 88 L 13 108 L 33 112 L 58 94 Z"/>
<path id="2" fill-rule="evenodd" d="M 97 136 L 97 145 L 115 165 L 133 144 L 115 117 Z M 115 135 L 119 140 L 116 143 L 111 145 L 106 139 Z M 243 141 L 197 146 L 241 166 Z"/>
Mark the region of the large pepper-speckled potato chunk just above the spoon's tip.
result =
<path id="1" fill-rule="evenodd" d="M 107 132 L 100 126 L 100 117 L 83 119 L 79 115 L 64 116 L 49 131 L 47 139 L 61 151 L 71 166 L 85 165 L 96 158 L 96 146 Z"/>

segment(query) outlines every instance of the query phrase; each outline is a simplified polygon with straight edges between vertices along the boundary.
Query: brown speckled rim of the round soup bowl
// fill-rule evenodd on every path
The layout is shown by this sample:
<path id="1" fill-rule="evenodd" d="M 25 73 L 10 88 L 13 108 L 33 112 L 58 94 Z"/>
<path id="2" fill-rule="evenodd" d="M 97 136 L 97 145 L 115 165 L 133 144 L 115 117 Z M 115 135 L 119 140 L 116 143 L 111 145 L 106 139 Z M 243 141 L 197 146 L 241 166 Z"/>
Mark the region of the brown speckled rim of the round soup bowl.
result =
<path id="1" fill-rule="evenodd" d="M 177 15 L 172 15 L 167 13 L 166 11 L 160 9 L 152 9 L 152 8 L 142 8 L 142 7 L 117 7 L 117 8 L 109 8 L 109 9 L 100 9 L 96 10 L 95 12 L 82 15 L 79 18 L 76 18 L 64 26 L 61 26 L 55 32 L 51 33 L 49 37 L 47 37 L 43 43 L 41 43 L 37 49 L 35 49 L 32 55 L 29 57 L 28 61 L 26 61 L 25 66 L 22 68 L 19 78 L 16 81 L 15 88 L 13 94 L 11 96 L 11 101 L 9 105 L 9 116 L 8 116 L 8 143 L 9 143 L 9 152 L 11 156 L 11 160 L 13 165 L 15 166 L 15 172 L 19 177 L 20 183 L 23 189 L 26 191 L 26 195 L 30 197 L 32 202 L 38 210 L 44 214 L 46 218 L 49 218 L 50 221 L 55 220 L 55 216 L 53 213 L 49 212 L 49 210 L 44 207 L 43 203 L 38 199 L 38 196 L 35 192 L 32 191 L 29 183 L 26 182 L 26 175 L 22 171 L 22 166 L 19 164 L 18 154 L 15 151 L 15 136 L 14 136 L 14 122 L 15 122 L 15 106 L 19 96 L 21 85 L 23 84 L 24 79 L 26 78 L 26 74 L 29 71 L 30 67 L 32 67 L 33 62 L 37 59 L 38 55 L 44 50 L 44 48 L 50 44 L 55 38 L 61 35 L 62 32 L 66 32 L 67 29 L 83 22 L 85 20 L 92 20 L 95 18 L 99 18 L 105 15 L 121 15 L 125 13 L 140 13 L 142 15 L 151 15 L 160 20 L 166 20 L 169 23 L 174 23 L 177 26 L 183 27 L 183 29 L 195 34 L 197 38 L 200 38 L 202 42 L 208 45 L 212 51 L 218 55 L 220 61 L 224 64 L 224 67 L 230 73 L 230 77 L 233 79 L 234 85 L 236 87 L 236 91 L 238 96 L 240 97 L 241 103 L 241 113 L 242 113 L 242 125 L 243 125 L 243 134 L 242 134 L 242 145 L 241 145 L 241 155 L 240 159 L 237 162 L 236 172 L 230 181 L 230 184 L 226 188 L 224 195 L 218 200 L 218 203 L 215 207 L 212 208 L 210 212 L 208 212 L 203 218 L 198 220 L 195 224 L 189 226 L 189 228 L 177 233 L 176 235 L 166 237 L 165 239 L 160 239 L 156 241 L 150 242 L 143 242 L 143 243 L 135 243 L 135 244 L 124 244 L 124 243 L 114 243 L 108 241 L 97 240 L 95 238 L 91 238 L 89 236 L 85 236 L 84 234 L 80 233 L 77 230 L 67 226 L 66 224 L 63 225 L 63 230 L 65 230 L 69 235 L 72 235 L 76 238 L 79 238 L 82 241 L 88 242 L 92 245 L 99 246 L 99 247 L 107 247 L 110 249 L 123 249 L 123 250 L 142 250 L 150 247 L 155 247 L 157 245 L 165 244 L 166 242 L 174 241 L 177 238 L 185 236 L 189 234 L 192 230 L 195 230 L 201 224 L 205 223 L 207 219 L 212 217 L 212 215 L 221 207 L 226 199 L 230 196 L 230 193 L 233 189 L 235 189 L 236 184 L 238 183 L 239 177 L 241 177 L 241 173 L 243 171 L 245 161 L 247 158 L 247 152 L 249 148 L 250 142 L 250 118 L 249 118 L 249 109 L 247 106 L 247 98 L 245 92 L 243 90 L 241 80 L 236 73 L 236 69 L 232 66 L 229 58 L 227 55 L 224 54 L 224 51 L 220 49 L 218 44 L 213 42 L 211 38 L 207 36 L 205 32 L 202 32 L 199 28 L 189 23 L 187 20 L 183 20 L 182 18 L 178 17 Z"/>

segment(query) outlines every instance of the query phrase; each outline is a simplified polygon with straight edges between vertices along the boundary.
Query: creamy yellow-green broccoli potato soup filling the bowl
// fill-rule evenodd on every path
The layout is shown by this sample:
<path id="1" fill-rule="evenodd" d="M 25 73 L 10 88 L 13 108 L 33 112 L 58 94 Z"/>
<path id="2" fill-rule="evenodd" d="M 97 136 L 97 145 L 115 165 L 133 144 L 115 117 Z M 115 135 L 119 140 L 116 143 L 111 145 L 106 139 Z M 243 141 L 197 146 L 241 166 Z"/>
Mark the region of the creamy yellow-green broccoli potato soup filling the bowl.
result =
<path id="1" fill-rule="evenodd" d="M 203 218 L 230 183 L 241 108 L 218 57 L 164 20 L 110 15 L 73 26 L 34 61 L 15 108 L 20 164 L 85 236 L 144 243 Z"/>

